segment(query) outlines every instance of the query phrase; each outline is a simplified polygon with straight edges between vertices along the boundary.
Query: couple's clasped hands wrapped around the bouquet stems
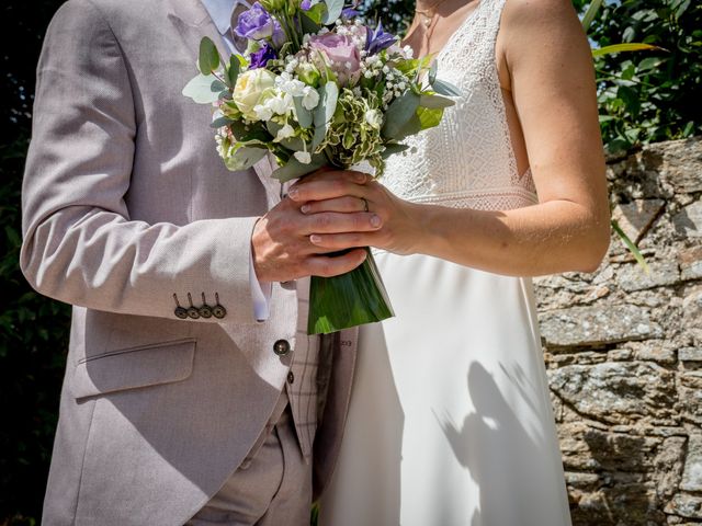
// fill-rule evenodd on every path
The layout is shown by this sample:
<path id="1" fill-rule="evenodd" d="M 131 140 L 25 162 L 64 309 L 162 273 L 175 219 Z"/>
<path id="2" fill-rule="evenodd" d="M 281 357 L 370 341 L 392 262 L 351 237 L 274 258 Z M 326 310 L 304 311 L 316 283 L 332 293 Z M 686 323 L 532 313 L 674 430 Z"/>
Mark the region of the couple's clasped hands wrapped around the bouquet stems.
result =
<path id="1" fill-rule="evenodd" d="M 251 236 L 256 275 L 261 282 L 336 276 L 363 263 L 364 247 L 411 253 L 420 208 L 366 173 L 318 170 L 257 221 Z"/>

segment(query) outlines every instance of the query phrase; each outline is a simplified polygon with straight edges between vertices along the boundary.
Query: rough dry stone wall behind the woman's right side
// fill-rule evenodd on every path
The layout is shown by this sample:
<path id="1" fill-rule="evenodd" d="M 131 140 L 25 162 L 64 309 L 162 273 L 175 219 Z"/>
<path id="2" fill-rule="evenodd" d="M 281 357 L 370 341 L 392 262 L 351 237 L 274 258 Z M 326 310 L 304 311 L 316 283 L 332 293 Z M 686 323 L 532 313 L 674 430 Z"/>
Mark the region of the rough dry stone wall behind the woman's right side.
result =
<path id="1" fill-rule="evenodd" d="M 702 138 L 609 161 L 593 274 L 535 279 L 574 525 L 702 524 Z"/>

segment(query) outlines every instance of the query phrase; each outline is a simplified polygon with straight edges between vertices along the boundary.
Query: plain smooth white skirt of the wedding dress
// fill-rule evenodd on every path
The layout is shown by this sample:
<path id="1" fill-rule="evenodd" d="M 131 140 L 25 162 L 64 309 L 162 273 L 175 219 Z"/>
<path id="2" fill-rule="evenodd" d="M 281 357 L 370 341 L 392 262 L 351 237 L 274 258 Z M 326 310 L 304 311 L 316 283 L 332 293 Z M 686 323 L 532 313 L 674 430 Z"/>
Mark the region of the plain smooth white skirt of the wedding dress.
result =
<path id="1" fill-rule="evenodd" d="M 375 252 L 321 526 L 569 526 L 531 279 Z"/>

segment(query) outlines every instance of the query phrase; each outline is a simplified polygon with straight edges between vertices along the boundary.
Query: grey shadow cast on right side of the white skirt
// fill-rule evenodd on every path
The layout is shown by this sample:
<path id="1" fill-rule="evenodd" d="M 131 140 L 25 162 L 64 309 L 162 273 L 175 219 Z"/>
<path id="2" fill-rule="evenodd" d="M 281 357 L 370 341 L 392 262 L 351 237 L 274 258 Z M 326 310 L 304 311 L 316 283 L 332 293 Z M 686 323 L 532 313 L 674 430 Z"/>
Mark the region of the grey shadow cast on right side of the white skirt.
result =
<path id="1" fill-rule="evenodd" d="M 507 381 L 517 384 L 513 375 Z M 477 362 L 468 369 L 467 387 L 475 411 L 463 425 L 448 416 L 439 420 L 457 461 L 479 488 L 471 525 L 562 526 L 562 495 L 547 441 L 526 432 L 492 375 Z M 523 386 L 514 387 L 513 392 L 522 391 Z"/>

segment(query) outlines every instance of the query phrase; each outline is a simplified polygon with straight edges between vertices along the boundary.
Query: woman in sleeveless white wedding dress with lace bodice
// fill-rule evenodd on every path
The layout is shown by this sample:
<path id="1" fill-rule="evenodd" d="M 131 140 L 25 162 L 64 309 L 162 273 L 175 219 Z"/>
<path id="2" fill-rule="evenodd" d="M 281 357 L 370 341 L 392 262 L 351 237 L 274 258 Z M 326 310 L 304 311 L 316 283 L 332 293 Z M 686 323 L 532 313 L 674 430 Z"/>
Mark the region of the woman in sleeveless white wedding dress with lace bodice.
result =
<path id="1" fill-rule="evenodd" d="M 390 159 L 384 187 L 350 192 L 383 219 L 354 236 L 378 248 L 396 317 L 361 328 L 320 525 L 569 525 L 524 276 L 593 271 L 609 243 L 587 39 L 568 0 L 420 1 L 418 13 L 405 43 L 439 52 L 462 95 Z"/>

